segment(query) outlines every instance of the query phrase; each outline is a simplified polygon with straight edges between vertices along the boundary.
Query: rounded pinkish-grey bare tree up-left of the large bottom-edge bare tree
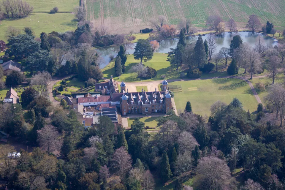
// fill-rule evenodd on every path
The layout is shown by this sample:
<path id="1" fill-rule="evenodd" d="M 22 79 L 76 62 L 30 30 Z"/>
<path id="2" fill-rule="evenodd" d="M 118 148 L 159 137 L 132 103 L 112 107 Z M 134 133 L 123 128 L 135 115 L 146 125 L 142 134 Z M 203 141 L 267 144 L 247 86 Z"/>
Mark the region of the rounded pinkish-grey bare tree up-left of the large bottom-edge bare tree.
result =
<path id="1" fill-rule="evenodd" d="M 179 152 L 191 152 L 194 150 L 195 146 L 199 144 L 197 143 L 195 137 L 190 132 L 183 131 L 178 138 Z"/>

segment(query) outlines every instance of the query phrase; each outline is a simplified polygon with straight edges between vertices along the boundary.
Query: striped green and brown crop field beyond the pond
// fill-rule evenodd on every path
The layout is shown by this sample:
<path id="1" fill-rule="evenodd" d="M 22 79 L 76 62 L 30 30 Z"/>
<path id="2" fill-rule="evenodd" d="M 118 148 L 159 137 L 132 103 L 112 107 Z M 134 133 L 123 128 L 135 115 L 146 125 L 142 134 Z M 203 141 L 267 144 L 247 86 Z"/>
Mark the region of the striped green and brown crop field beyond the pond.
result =
<path id="1" fill-rule="evenodd" d="M 201 25 L 209 15 L 246 23 L 249 15 L 256 14 L 264 23 L 285 26 L 284 9 L 284 0 L 87 0 L 88 19 L 112 29 L 147 26 L 159 15 L 170 24 L 186 18 Z"/>

